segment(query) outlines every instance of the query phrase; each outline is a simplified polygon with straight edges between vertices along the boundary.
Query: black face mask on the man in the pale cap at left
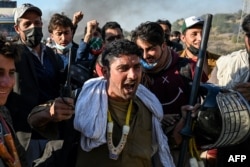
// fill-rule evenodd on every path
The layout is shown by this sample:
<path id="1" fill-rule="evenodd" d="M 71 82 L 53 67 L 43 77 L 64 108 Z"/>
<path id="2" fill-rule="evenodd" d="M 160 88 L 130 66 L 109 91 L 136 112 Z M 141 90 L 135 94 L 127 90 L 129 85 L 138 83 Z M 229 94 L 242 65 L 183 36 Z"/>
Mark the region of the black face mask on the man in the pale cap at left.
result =
<path id="1" fill-rule="evenodd" d="M 28 30 L 23 31 L 25 34 L 26 40 L 25 44 L 31 48 L 36 47 L 41 43 L 43 38 L 43 32 L 41 27 L 33 27 Z"/>

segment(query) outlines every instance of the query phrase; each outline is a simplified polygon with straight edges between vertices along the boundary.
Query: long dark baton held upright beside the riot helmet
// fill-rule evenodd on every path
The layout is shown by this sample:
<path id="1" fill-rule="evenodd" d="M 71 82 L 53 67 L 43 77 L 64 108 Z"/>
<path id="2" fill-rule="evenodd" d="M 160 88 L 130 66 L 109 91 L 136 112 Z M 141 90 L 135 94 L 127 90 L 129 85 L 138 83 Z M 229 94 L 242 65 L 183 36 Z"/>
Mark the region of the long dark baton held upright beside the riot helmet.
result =
<path id="1" fill-rule="evenodd" d="M 198 61 L 195 67 L 194 79 L 192 82 L 191 94 L 190 94 L 190 99 L 189 99 L 189 105 L 195 105 L 195 103 L 197 102 L 198 89 L 200 87 L 200 81 L 201 81 L 201 76 L 203 72 L 203 64 L 204 64 L 205 56 L 206 56 L 207 42 L 208 42 L 208 37 L 210 33 L 212 18 L 213 16 L 211 14 L 207 14 L 205 21 L 204 21 L 204 26 L 202 30 L 202 38 L 201 38 L 201 47 L 199 49 Z M 183 137 L 183 141 L 181 145 L 181 152 L 179 155 L 177 167 L 185 166 L 184 163 L 185 163 L 186 154 L 188 150 L 188 142 L 189 142 L 189 139 L 192 137 L 192 124 L 193 124 L 193 120 L 191 117 L 191 112 L 188 112 L 185 126 L 180 131 L 180 134 Z"/>

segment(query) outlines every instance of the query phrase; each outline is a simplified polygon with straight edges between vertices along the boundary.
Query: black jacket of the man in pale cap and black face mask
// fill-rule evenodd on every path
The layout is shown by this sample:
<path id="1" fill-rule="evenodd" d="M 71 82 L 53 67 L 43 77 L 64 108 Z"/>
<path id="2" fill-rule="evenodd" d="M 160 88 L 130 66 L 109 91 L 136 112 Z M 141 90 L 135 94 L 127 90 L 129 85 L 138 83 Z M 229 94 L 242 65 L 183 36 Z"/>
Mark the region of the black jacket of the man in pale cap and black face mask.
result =
<path id="1" fill-rule="evenodd" d="M 37 79 L 34 55 L 23 44 L 20 44 L 22 49 L 21 59 L 16 65 L 16 84 L 13 92 L 10 93 L 6 106 L 11 112 L 13 119 L 13 127 L 18 135 L 20 143 L 27 148 L 31 137 L 32 129 L 27 122 L 27 117 L 35 106 L 45 103 L 41 102 L 39 94 L 39 82 Z M 55 55 L 53 50 L 46 46 L 44 54 L 48 56 L 55 71 L 55 81 L 58 83 L 54 86 L 56 98 L 59 96 L 60 85 L 62 82 L 63 63 L 59 56 Z M 52 100 L 52 99 L 47 99 Z"/>

